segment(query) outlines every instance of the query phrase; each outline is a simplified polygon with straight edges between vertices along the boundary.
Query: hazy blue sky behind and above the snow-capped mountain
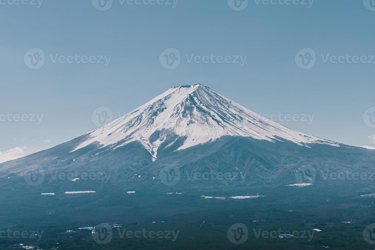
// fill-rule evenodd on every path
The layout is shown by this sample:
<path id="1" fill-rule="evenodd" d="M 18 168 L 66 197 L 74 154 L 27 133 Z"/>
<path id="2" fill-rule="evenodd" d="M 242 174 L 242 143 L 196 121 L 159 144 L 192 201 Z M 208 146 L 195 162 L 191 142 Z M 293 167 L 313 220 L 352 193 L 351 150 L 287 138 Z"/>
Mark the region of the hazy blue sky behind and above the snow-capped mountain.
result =
<path id="1" fill-rule="evenodd" d="M 375 1 L 236 1 L 1 0 L 0 162 L 95 129 L 98 107 L 117 118 L 198 82 L 299 131 L 375 146 Z M 170 48 L 179 64 L 166 69 Z"/>

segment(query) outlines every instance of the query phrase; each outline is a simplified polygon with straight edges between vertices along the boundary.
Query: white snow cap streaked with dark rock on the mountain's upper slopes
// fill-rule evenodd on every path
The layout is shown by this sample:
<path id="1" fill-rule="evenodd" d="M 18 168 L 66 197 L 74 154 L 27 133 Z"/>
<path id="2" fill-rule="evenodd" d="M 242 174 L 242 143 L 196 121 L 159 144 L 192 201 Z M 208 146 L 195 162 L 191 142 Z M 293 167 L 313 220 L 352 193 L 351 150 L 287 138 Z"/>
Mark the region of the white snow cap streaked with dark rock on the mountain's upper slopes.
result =
<path id="1" fill-rule="evenodd" d="M 138 141 L 156 159 L 160 144 L 169 135 L 185 138 L 178 150 L 226 135 L 267 141 L 282 138 L 301 146 L 320 143 L 339 147 L 336 142 L 282 126 L 204 85 L 195 84 L 169 88 L 123 117 L 87 133 L 88 139 L 73 151 L 93 142 L 102 147 L 117 144 L 113 145 L 116 148 Z M 172 144 L 173 141 L 168 146 Z"/>

